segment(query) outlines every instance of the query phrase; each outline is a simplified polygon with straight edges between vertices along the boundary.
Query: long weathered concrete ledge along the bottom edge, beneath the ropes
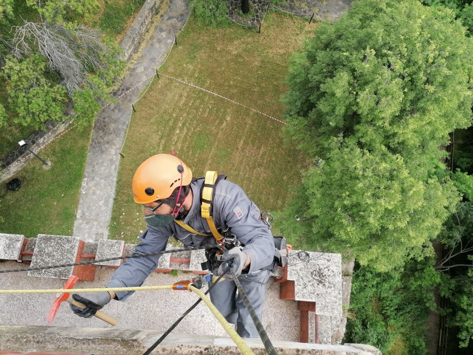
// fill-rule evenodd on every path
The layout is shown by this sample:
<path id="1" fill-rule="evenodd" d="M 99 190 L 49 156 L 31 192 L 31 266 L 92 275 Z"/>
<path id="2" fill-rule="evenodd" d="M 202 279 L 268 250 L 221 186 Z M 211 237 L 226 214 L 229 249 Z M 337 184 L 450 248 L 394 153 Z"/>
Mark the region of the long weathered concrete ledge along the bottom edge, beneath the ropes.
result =
<path id="1" fill-rule="evenodd" d="M 153 330 L 42 326 L 0 326 L 0 350 L 89 354 L 142 354 L 162 333 Z M 245 339 L 256 355 L 266 354 L 259 339 Z M 318 345 L 274 341 L 279 355 L 381 355 L 369 345 Z M 171 333 L 157 354 L 236 355 L 240 351 L 228 337 Z"/>

